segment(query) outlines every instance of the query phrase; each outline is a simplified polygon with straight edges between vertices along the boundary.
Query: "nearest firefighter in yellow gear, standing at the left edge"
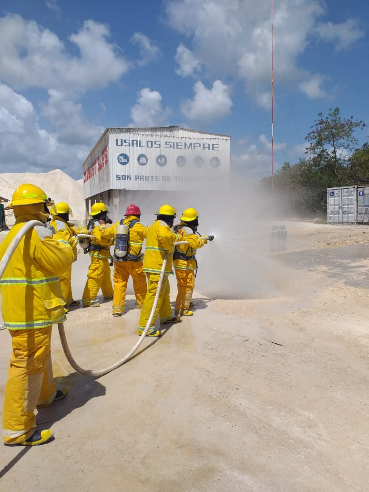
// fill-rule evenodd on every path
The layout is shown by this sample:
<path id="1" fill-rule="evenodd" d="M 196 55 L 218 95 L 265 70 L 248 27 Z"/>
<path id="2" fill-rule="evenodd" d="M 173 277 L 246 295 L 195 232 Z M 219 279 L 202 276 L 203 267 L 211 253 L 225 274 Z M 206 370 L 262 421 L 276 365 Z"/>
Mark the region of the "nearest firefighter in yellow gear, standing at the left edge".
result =
<path id="1" fill-rule="evenodd" d="M 54 323 L 65 321 L 59 275 L 69 270 L 71 246 L 46 226 L 49 215 L 46 193 L 23 184 L 10 205 L 15 225 L 0 245 L 0 259 L 16 233 L 29 220 L 40 220 L 21 239 L 0 279 L 1 313 L 12 337 L 12 356 L 5 387 L 2 433 L 8 446 L 37 446 L 53 439 L 50 429 L 36 428 L 34 409 L 62 400 L 56 390 L 50 353 Z"/>

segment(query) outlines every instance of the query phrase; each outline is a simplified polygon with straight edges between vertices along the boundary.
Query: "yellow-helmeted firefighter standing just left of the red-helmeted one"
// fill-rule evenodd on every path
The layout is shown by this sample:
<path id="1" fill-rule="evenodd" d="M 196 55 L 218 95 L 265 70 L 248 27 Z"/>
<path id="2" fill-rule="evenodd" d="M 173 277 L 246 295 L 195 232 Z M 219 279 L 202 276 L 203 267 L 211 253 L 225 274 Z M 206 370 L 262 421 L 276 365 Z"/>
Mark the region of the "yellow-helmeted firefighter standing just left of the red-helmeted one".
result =
<path id="1" fill-rule="evenodd" d="M 89 252 L 91 264 L 82 295 L 82 304 L 85 307 L 100 306 L 100 303 L 96 301 L 96 296 L 100 288 L 104 299 L 113 298 L 113 285 L 109 265 L 111 258 L 110 246 L 113 244 L 113 239 L 102 236 L 108 228 L 107 224 L 113 223 L 108 217 L 109 212 L 109 207 L 101 202 L 94 203 L 91 207 L 92 230 L 89 227 L 89 234 L 94 239 L 90 241 Z"/>

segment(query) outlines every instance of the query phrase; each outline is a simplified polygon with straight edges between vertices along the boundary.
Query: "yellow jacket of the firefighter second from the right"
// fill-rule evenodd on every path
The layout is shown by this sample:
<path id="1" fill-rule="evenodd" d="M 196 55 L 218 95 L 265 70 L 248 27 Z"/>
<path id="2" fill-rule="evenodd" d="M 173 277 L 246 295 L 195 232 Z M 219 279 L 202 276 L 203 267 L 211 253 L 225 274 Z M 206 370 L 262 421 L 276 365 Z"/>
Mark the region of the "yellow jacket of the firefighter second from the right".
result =
<path id="1" fill-rule="evenodd" d="M 169 228 L 169 225 L 162 220 L 155 220 L 149 228 L 146 238 L 144 272 L 150 274 L 160 274 L 165 253 L 171 253 L 168 256 L 165 275 L 173 275 L 173 251 L 174 243 L 181 241 L 182 235 L 175 234 Z"/>

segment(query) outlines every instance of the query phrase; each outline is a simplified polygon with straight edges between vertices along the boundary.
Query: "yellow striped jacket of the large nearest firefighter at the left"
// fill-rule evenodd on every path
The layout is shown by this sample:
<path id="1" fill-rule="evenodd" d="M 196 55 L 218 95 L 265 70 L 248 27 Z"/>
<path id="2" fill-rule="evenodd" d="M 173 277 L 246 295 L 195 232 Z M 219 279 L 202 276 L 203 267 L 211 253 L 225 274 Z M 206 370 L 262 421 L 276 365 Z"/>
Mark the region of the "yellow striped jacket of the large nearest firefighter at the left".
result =
<path id="1" fill-rule="evenodd" d="M 0 245 L 0 260 L 16 233 L 32 215 L 19 215 Z M 59 275 L 73 262 L 73 250 L 46 227 L 28 231 L 0 279 L 1 314 L 6 328 L 43 328 L 65 320 Z"/>

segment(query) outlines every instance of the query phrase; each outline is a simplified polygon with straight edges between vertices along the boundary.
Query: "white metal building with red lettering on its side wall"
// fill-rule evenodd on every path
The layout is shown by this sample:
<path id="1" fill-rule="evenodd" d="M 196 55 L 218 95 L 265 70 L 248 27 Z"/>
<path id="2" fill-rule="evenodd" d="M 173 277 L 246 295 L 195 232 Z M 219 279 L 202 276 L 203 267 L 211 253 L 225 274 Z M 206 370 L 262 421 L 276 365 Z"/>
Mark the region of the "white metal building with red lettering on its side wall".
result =
<path id="1" fill-rule="evenodd" d="M 180 128 L 106 128 L 83 163 L 86 212 L 95 202 L 122 211 L 141 192 L 224 184 L 230 136 Z"/>

